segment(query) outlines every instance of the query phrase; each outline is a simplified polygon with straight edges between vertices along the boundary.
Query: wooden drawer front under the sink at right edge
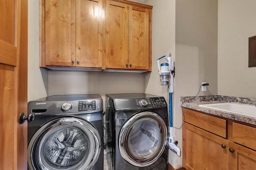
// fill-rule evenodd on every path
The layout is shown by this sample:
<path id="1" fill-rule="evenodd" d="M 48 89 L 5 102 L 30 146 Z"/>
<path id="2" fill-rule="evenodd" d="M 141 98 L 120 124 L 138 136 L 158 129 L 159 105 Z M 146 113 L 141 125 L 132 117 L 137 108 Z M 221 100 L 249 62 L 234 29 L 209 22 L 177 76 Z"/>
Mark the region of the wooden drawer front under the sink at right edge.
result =
<path id="1" fill-rule="evenodd" d="M 256 128 L 241 125 L 239 123 L 232 123 L 232 137 L 233 141 L 256 150 Z"/>

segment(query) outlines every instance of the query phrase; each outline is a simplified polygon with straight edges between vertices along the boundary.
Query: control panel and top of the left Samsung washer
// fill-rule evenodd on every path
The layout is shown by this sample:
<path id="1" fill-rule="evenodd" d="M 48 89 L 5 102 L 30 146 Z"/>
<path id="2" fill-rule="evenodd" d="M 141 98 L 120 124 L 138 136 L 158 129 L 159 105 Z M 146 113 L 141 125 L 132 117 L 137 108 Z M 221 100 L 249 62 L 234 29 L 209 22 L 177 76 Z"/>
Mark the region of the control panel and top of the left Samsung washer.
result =
<path id="1" fill-rule="evenodd" d="M 103 100 L 99 94 L 53 95 L 28 102 L 28 113 L 37 116 L 103 113 Z"/>

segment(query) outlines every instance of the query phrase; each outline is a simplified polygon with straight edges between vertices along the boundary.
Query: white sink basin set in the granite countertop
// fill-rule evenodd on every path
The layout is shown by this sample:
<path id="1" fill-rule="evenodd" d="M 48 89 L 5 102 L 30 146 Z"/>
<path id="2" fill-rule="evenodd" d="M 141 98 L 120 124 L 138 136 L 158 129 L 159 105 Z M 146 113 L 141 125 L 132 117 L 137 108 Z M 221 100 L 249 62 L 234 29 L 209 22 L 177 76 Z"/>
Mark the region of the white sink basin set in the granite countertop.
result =
<path id="1" fill-rule="evenodd" d="M 219 111 L 226 111 L 238 115 L 256 117 L 256 106 L 252 104 L 230 102 L 216 104 L 200 104 L 199 107 L 205 107 Z"/>

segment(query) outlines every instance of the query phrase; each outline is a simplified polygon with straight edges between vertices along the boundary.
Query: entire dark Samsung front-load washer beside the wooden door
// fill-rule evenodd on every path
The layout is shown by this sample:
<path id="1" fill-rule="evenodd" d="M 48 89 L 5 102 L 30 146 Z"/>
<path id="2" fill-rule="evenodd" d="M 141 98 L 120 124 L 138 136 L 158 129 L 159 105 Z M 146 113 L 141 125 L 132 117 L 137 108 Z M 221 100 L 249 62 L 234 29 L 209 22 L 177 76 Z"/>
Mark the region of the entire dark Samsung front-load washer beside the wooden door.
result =
<path id="1" fill-rule="evenodd" d="M 99 94 L 54 95 L 28 102 L 28 169 L 103 170 Z"/>

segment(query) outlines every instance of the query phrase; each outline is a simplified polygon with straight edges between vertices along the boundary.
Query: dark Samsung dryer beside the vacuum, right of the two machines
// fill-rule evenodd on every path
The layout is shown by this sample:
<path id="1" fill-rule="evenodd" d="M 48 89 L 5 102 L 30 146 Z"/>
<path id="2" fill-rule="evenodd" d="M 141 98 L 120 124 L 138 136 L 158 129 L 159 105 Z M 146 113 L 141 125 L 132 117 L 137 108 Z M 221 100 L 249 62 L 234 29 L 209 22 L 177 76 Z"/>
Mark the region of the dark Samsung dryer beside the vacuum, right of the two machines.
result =
<path id="1" fill-rule="evenodd" d="M 168 109 L 161 96 L 106 94 L 110 170 L 168 170 Z"/>

